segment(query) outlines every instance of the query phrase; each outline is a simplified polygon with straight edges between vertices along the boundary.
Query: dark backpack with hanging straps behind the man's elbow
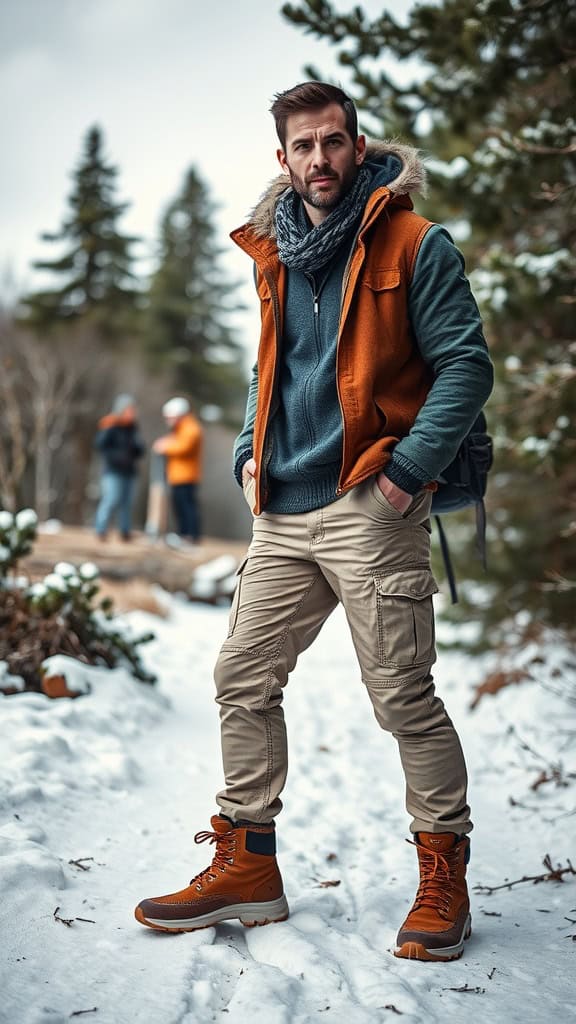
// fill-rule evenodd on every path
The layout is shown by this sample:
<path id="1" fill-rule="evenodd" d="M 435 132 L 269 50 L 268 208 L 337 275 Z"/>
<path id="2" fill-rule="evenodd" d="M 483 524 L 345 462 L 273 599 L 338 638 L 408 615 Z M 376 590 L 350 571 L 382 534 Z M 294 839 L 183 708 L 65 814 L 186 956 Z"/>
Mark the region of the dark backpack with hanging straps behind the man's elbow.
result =
<path id="1" fill-rule="evenodd" d="M 436 519 L 440 547 L 450 587 L 452 604 L 457 604 L 458 593 L 450 558 L 448 540 L 440 519 L 446 512 L 476 506 L 477 547 L 486 569 L 486 508 L 484 496 L 488 484 L 488 473 L 492 466 L 492 438 L 488 431 L 484 413 L 479 413 L 468 433 L 464 437 L 455 459 L 443 470 L 438 478 L 438 490 L 433 495 L 431 512 Z"/>

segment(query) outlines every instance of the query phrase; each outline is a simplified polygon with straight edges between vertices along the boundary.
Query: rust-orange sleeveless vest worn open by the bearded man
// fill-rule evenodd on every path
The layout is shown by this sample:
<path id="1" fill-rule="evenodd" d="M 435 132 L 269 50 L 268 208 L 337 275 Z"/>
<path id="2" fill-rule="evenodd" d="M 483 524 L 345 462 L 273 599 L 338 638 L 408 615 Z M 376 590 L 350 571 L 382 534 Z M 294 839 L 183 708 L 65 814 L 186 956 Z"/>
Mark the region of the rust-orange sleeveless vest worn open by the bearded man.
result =
<path id="1" fill-rule="evenodd" d="M 389 229 L 381 229 L 382 220 Z M 376 221 L 380 229 L 371 231 Z M 382 469 L 399 438 L 412 427 L 431 386 L 431 371 L 413 343 L 408 318 L 408 287 L 430 226 L 430 221 L 412 212 L 408 196 L 394 195 L 385 186 L 377 188 L 366 205 L 344 274 L 340 309 L 336 380 L 343 458 L 337 494 Z M 261 335 L 253 435 L 258 514 L 266 500 L 265 434 L 276 398 L 286 268 L 274 239 L 253 222 L 233 231 L 232 239 L 258 270 Z"/>

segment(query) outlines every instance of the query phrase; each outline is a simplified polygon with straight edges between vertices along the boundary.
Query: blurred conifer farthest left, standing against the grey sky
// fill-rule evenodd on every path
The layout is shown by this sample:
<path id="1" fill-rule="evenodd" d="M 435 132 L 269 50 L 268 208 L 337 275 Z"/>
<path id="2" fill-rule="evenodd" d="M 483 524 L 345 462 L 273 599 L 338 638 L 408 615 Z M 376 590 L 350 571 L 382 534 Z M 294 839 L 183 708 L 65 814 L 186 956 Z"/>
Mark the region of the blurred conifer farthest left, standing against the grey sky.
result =
<path id="1" fill-rule="evenodd" d="M 128 204 L 116 200 L 118 171 L 102 151 L 102 133 L 93 126 L 74 172 L 68 214 L 57 231 L 41 236 L 64 248 L 59 257 L 34 263 L 54 276 L 55 287 L 23 299 L 22 318 L 41 333 L 85 318 L 102 334 L 116 336 L 133 321 L 138 292 L 131 249 L 137 239 L 118 229 Z"/>

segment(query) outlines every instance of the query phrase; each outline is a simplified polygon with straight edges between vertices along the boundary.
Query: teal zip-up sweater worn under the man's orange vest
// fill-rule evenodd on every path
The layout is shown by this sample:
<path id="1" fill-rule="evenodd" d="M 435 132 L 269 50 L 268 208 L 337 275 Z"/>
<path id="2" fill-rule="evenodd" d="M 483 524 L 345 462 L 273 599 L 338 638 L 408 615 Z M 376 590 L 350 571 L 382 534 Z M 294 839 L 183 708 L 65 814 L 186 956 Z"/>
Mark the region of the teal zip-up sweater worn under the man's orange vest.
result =
<path id="1" fill-rule="evenodd" d="M 400 161 L 387 156 L 368 166 L 376 188 L 397 176 Z M 301 216 L 305 217 L 303 206 Z M 342 422 L 336 343 L 342 278 L 353 244 L 351 238 L 336 259 L 314 275 L 288 272 L 279 406 L 269 427 L 268 512 L 307 512 L 337 497 Z M 462 255 L 440 225 L 429 228 L 420 246 L 408 306 L 415 342 L 435 382 L 410 433 L 396 445 L 385 473 L 402 489 L 416 494 L 452 461 L 493 381 Z M 252 455 L 256 397 L 254 368 L 245 424 L 235 444 L 239 481 L 242 466 Z"/>

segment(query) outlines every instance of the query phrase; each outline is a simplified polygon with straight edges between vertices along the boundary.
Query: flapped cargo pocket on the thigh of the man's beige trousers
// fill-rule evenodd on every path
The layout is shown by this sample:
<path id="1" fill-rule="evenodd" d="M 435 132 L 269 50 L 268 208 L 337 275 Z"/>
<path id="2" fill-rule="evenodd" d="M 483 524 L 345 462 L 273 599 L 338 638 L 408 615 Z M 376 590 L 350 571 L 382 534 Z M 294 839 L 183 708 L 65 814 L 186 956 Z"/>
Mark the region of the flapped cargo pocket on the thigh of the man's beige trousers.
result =
<path id="1" fill-rule="evenodd" d="M 438 586 L 427 568 L 374 572 L 378 657 L 382 667 L 411 669 L 434 655 L 433 594 Z"/>

